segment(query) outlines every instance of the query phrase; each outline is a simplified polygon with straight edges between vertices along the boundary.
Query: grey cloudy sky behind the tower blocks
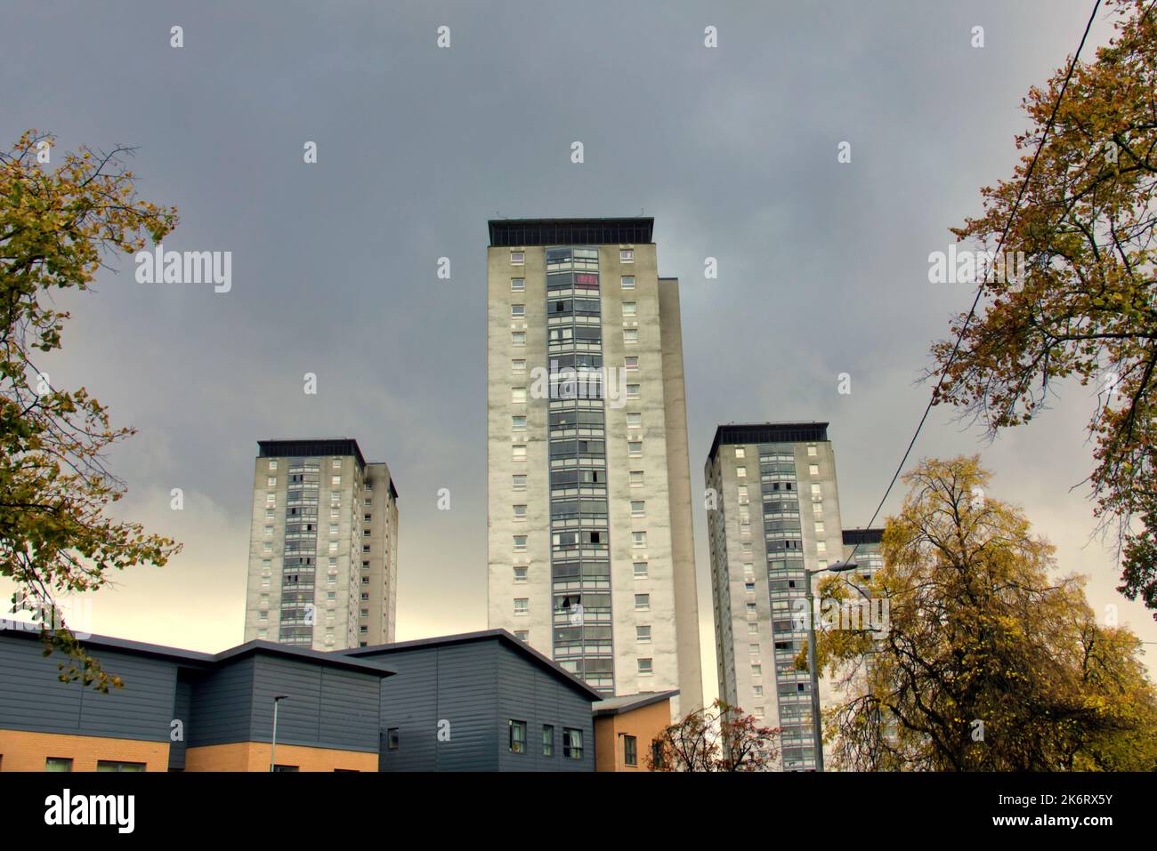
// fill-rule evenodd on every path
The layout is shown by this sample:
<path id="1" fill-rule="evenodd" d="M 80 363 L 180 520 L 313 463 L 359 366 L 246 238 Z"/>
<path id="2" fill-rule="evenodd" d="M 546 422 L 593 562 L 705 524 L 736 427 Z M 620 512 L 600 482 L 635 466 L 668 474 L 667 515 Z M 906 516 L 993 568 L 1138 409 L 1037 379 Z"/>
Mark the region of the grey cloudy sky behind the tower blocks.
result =
<path id="1" fill-rule="evenodd" d="M 256 442 L 358 438 L 400 491 L 398 637 L 486 627 L 486 220 L 655 217 L 683 279 L 693 487 L 720 422 L 827 420 L 843 525 L 883 494 L 966 310 L 928 253 L 1011 173 L 1018 110 L 1075 50 L 1089 0 L 1023 2 L 13 2 L 0 136 L 139 146 L 141 194 L 176 204 L 167 249 L 233 252 L 233 290 L 139 284 L 128 257 L 74 310 L 54 384 L 139 436 L 118 509 L 185 542 L 94 602 L 96 631 L 220 650 L 242 639 Z M 435 31 L 451 28 L 449 50 Z M 702 44 L 706 25 L 718 47 Z M 169 46 L 170 27 L 184 47 Z M 986 46 L 970 45 L 985 28 Z M 1086 58 L 1110 34 L 1093 28 Z M 569 161 L 581 140 L 585 162 Z M 318 163 L 302 146 L 318 145 Z M 837 162 L 849 141 L 850 164 Z M 452 262 L 449 282 L 436 261 Z M 717 281 L 703 280 L 716 257 Z M 318 376 L 318 394 L 302 376 Z M 837 392 L 837 375 L 853 392 Z M 936 412 L 916 456 L 981 451 L 1157 641 L 1089 543 L 1088 388 L 987 445 Z M 179 487 L 185 510 L 169 510 Z M 436 510 L 436 491 L 452 510 Z M 899 504 L 900 491 L 887 509 Z M 701 639 L 714 694 L 705 517 Z"/>

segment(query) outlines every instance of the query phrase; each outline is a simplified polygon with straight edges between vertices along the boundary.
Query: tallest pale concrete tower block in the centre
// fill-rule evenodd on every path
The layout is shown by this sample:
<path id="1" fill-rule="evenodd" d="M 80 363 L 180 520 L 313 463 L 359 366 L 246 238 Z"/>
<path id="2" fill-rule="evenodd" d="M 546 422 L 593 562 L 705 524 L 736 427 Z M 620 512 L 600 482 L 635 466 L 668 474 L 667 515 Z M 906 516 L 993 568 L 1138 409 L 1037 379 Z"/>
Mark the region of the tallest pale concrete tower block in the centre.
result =
<path id="1" fill-rule="evenodd" d="M 488 620 L 702 704 L 679 284 L 654 220 L 489 222 Z"/>

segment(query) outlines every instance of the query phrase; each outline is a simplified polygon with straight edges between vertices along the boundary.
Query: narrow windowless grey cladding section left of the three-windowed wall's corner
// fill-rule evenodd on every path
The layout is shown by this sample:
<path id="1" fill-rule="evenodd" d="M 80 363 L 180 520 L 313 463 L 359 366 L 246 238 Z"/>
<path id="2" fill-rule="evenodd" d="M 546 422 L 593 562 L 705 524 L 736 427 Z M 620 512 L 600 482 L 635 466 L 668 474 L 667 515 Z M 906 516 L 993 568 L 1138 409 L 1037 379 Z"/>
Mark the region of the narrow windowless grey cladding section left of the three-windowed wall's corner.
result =
<path id="1" fill-rule="evenodd" d="M 450 741 L 437 741 L 439 771 L 495 771 L 495 698 L 499 642 L 480 641 L 437 652 L 437 719 L 450 723 Z"/>

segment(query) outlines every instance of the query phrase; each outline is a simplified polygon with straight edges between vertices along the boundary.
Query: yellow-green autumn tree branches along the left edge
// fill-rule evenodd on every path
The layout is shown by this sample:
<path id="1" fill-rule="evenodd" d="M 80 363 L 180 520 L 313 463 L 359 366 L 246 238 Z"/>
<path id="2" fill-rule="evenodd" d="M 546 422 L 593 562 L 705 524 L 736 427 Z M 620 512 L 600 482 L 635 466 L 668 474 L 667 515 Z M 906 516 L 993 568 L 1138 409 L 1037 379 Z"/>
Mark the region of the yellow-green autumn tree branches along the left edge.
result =
<path id="1" fill-rule="evenodd" d="M 137 198 L 130 153 L 81 148 L 53 168 L 52 139 L 36 131 L 0 153 L 0 576 L 16 585 L 14 610 L 40 621 L 45 653 L 66 654 L 61 680 L 101 690 L 119 680 L 76 641 L 57 595 L 162 565 L 179 547 L 110 517 L 125 486 L 105 452 L 135 432 L 112 428 L 87 388 L 54 386 L 39 361 L 61 347 L 69 317 L 54 294 L 89 289 L 111 253 L 160 242 L 176 224 L 175 208 Z"/>

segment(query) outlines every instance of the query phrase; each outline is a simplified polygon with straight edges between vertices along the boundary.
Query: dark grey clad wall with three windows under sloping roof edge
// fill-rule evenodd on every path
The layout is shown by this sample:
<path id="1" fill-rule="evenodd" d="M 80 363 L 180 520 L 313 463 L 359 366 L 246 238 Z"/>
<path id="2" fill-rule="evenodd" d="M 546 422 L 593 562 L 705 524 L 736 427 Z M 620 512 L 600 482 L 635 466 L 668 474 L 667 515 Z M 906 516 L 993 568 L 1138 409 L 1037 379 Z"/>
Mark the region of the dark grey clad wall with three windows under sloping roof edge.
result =
<path id="1" fill-rule="evenodd" d="M 500 745 L 500 770 L 595 770 L 595 730 L 590 701 L 558 676 L 504 646 L 500 648 L 498 708 L 495 735 Z M 510 753 L 510 719 L 526 722 L 525 754 Z M 554 756 L 543 756 L 544 724 L 554 725 Z M 568 760 L 562 756 L 563 727 L 583 731 L 581 760 Z"/>

